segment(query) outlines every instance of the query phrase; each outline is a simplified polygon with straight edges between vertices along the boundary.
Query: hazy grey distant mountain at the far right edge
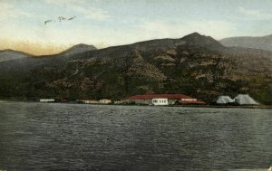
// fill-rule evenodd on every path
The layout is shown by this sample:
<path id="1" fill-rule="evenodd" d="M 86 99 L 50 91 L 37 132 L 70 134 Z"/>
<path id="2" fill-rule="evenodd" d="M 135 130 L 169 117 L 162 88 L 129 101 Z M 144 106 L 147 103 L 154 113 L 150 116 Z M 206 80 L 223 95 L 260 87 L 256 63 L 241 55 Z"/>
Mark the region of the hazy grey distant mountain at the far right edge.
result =
<path id="1" fill-rule="evenodd" d="M 262 37 L 229 37 L 220 40 L 225 46 L 261 49 L 272 52 L 272 34 Z"/>

